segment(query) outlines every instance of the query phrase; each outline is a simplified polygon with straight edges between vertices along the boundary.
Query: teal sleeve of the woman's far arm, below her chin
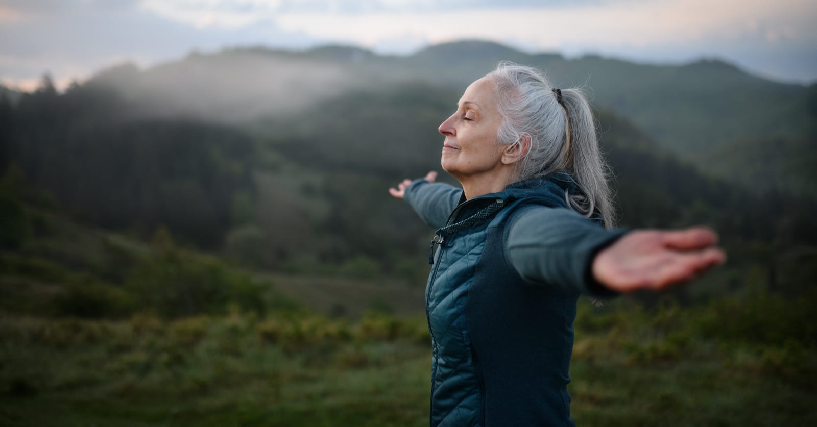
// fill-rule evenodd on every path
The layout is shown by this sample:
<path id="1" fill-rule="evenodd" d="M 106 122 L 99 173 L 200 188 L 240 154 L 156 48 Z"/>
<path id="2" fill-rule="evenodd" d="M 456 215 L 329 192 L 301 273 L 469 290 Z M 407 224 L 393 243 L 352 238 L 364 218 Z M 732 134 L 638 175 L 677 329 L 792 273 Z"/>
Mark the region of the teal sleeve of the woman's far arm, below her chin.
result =
<path id="1" fill-rule="evenodd" d="M 417 216 L 433 229 L 440 229 L 457 207 L 462 189 L 426 180 L 414 180 L 405 191 L 404 200 L 417 212 Z"/>

